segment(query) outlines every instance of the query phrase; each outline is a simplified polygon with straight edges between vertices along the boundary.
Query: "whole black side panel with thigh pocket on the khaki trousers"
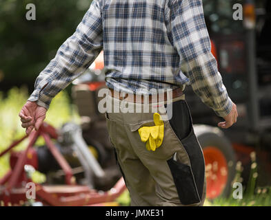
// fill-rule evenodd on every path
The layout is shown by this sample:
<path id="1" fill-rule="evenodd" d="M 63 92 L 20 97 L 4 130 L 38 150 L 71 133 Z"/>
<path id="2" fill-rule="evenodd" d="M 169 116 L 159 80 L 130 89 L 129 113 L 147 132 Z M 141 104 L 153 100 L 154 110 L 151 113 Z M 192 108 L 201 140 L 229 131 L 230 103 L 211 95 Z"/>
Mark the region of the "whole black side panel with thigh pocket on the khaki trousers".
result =
<path id="1" fill-rule="evenodd" d="M 186 158 L 168 160 L 179 199 L 185 205 L 199 203 L 203 195 L 205 162 L 201 146 L 194 134 L 190 110 L 185 101 L 173 103 L 170 128 L 179 139 L 186 154 Z M 187 163 L 187 160 L 189 160 L 189 163 Z"/>

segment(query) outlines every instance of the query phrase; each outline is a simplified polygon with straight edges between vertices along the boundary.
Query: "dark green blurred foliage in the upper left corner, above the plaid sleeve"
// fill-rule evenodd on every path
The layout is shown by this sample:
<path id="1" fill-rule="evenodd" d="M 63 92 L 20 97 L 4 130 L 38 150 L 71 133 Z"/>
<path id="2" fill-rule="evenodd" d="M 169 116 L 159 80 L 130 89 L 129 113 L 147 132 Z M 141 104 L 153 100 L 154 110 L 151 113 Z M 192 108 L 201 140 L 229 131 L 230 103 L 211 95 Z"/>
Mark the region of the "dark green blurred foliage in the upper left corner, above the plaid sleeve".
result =
<path id="1" fill-rule="evenodd" d="M 26 5 L 36 20 L 26 19 Z M 0 0 L 0 88 L 33 85 L 59 46 L 73 34 L 91 0 Z"/>

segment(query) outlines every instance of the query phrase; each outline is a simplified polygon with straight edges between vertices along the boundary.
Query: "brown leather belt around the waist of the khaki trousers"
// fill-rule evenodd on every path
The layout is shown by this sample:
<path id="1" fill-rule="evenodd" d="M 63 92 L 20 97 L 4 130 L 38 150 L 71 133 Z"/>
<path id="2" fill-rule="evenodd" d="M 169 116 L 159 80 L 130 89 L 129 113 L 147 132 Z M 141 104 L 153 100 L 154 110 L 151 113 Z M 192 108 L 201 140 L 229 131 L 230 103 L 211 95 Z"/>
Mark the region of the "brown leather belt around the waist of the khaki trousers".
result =
<path id="1" fill-rule="evenodd" d="M 136 95 L 136 94 L 125 94 L 121 93 L 119 91 L 114 91 L 113 89 L 109 89 L 110 94 L 112 97 L 117 98 L 119 100 L 127 100 L 128 102 L 139 102 L 139 103 L 144 103 L 144 98 L 146 95 Z M 123 96 L 125 95 L 125 96 Z M 154 97 L 156 96 L 156 97 Z M 169 96 L 170 99 L 178 98 L 179 96 L 183 96 L 183 91 L 181 88 L 174 89 L 172 90 L 172 96 Z M 167 92 L 162 94 L 155 94 L 155 95 L 149 95 L 149 103 L 154 102 L 165 102 L 168 100 Z"/>

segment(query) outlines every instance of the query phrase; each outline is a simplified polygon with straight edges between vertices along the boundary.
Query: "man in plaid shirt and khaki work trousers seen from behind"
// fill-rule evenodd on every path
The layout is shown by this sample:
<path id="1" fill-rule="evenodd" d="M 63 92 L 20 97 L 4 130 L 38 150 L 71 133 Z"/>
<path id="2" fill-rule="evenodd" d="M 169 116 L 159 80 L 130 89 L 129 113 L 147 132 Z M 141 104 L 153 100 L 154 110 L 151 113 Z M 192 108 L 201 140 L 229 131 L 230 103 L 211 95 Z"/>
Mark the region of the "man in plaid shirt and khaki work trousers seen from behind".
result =
<path id="1" fill-rule="evenodd" d="M 19 113 L 26 133 L 39 129 L 52 98 L 102 49 L 107 99 L 117 109 L 106 113 L 108 131 L 132 205 L 202 206 L 205 164 L 184 100 L 185 85 L 225 119 L 221 128 L 237 122 L 238 114 L 211 53 L 201 0 L 92 1 Z M 123 100 L 138 107 L 143 97 L 155 100 L 161 89 L 171 96 L 158 92 L 164 99 L 148 102 L 149 112 L 123 113 Z M 171 115 L 164 111 L 168 101 Z M 153 113 L 157 106 L 163 111 Z"/>

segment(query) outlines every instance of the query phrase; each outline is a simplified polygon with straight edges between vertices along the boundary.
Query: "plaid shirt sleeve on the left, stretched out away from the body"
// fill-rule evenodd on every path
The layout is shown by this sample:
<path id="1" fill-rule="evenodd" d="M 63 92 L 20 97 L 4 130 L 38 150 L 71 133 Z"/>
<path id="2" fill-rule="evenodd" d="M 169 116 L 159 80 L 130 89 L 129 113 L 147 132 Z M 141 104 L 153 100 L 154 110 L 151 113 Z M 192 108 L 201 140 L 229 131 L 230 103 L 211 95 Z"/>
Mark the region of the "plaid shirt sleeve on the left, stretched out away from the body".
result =
<path id="1" fill-rule="evenodd" d="M 39 74 L 28 100 L 46 109 L 59 91 L 83 74 L 103 48 L 101 5 L 92 1 L 77 30 L 57 51 L 57 55 Z"/>

